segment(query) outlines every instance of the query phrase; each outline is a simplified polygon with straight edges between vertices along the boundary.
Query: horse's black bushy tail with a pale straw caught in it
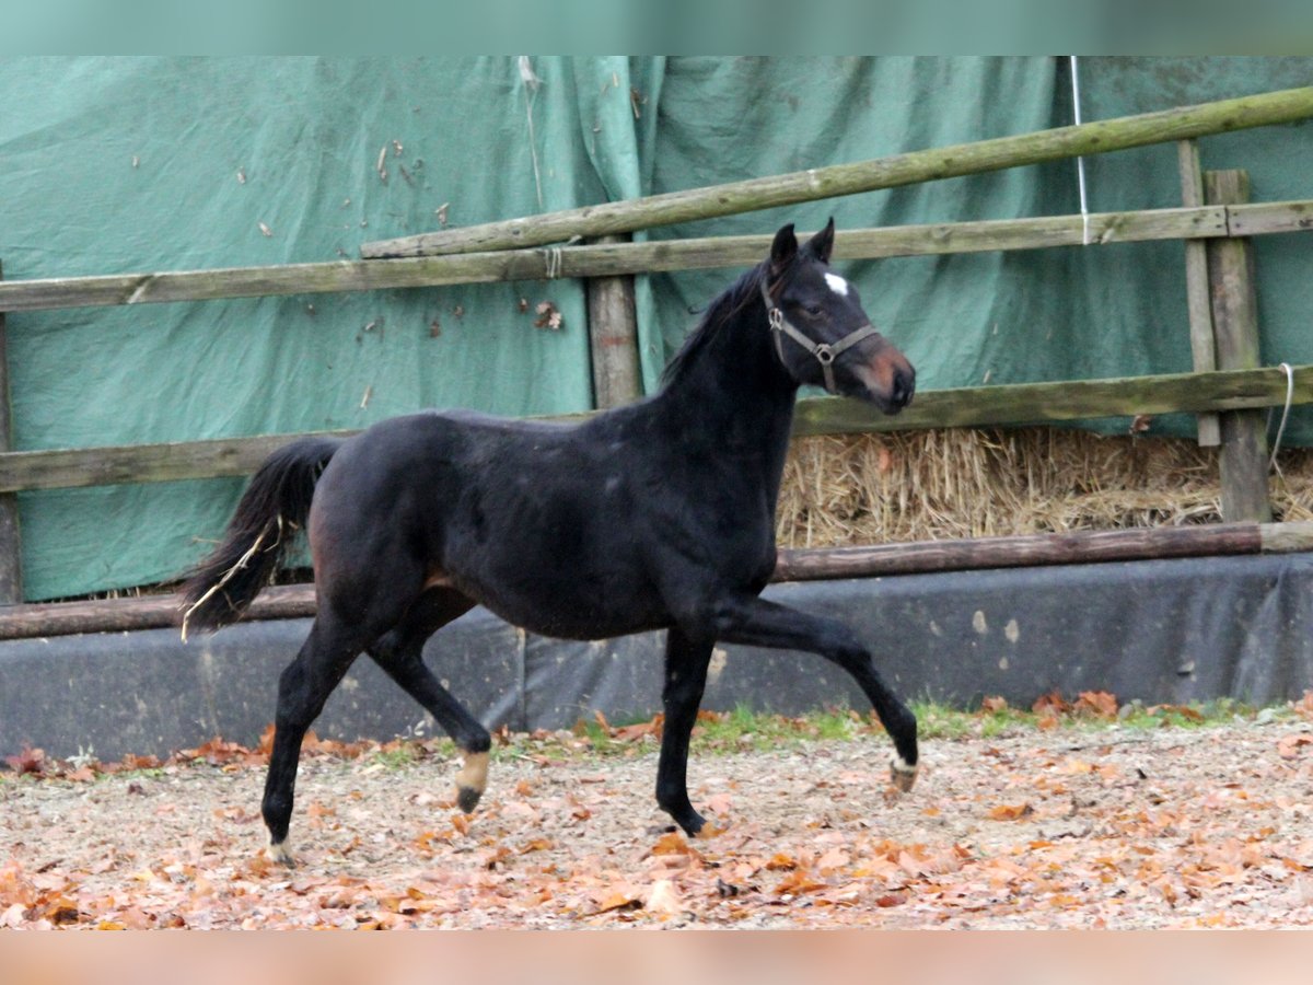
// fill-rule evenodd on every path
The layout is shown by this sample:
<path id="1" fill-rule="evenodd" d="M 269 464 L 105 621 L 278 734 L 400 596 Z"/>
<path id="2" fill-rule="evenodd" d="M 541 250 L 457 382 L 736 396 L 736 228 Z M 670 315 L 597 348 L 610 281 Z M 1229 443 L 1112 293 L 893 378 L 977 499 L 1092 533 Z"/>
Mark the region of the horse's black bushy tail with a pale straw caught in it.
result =
<path id="1" fill-rule="evenodd" d="M 188 629 L 221 629 L 242 617 L 269 583 L 293 535 L 306 525 L 315 483 L 341 443 L 302 437 L 270 454 L 242 495 L 223 541 L 188 571 L 183 640 Z"/>

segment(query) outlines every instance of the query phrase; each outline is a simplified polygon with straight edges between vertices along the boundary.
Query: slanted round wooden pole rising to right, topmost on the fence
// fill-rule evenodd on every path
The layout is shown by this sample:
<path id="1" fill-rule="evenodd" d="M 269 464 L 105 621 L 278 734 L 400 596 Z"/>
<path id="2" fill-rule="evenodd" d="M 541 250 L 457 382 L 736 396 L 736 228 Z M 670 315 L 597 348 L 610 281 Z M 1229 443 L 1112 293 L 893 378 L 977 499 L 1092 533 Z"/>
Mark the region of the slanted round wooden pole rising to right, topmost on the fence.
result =
<path id="1" fill-rule="evenodd" d="M 571 236 L 634 232 L 675 222 L 713 219 L 758 209 L 978 175 L 1062 158 L 1107 154 L 1254 126 L 1289 123 L 1310 116 L 1313 116 L 1313 88 L 1284 89 L 953 147 L 911 151 L 853 164 L 834 164 L 789 175 L 772 175 L 482 226 L 378 240 L 365 243 L 360 255 L 366 259 L 402 257 L 563 243 Z"/>

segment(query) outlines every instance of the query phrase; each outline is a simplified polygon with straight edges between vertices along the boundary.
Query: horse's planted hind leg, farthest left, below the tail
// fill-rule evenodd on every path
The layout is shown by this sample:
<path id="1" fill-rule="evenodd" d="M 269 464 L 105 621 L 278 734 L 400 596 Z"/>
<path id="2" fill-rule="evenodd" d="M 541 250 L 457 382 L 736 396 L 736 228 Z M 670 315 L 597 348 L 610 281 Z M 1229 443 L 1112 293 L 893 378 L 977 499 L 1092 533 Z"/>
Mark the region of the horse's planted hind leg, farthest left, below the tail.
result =
<path id="1" fill-rule="evenodd" d="M 331 612 L 320 611 L 297 658 L 278 678 L 273 751 L 260 808 L 269 829 L 269 856 L 274 862 L 294 864 L 288 850 L 288 826 L 295 797 L 301 741 L 361 649 L 361 641 L 351 629 Z"/>

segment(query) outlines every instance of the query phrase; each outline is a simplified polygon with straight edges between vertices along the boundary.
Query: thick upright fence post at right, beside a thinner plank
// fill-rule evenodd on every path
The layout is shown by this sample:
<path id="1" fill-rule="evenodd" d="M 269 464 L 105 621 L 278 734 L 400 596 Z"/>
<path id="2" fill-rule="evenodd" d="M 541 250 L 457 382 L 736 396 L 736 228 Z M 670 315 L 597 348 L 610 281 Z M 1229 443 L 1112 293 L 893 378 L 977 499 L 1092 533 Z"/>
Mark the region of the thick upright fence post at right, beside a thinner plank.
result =
<path id="1" fill-rule="evenodd" d="M 1209 171 L 1204 194 L 1211 205 L 1249 201 L 1249 173 Z M 1247 238 L 1212 239 L 1208 284 L 1218 369 L 1259 365 L 1258 301 L 1254 294 L 1254 247 Z M 1221 432 L 1222 519 L 1228 523 L 1272 519 L 1267 496 L 1267 418 L 1263 411 L 1218 415 Z"/>

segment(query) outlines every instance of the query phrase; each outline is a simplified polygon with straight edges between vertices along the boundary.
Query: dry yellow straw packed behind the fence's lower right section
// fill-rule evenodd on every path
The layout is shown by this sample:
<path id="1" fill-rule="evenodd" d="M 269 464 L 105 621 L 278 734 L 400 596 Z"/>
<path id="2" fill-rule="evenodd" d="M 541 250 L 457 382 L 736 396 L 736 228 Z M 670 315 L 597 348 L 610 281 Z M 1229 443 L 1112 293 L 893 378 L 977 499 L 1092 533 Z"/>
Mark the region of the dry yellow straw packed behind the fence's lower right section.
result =
<path id="1" fill-rule="evenodd" d="M 1281 450 L 1275 519 L 1313 519 L 1313 452 Z M 1217 450 L 1061 428 L 807 437 L 780 490 L 786 548 L 1221 520 Z"/>

